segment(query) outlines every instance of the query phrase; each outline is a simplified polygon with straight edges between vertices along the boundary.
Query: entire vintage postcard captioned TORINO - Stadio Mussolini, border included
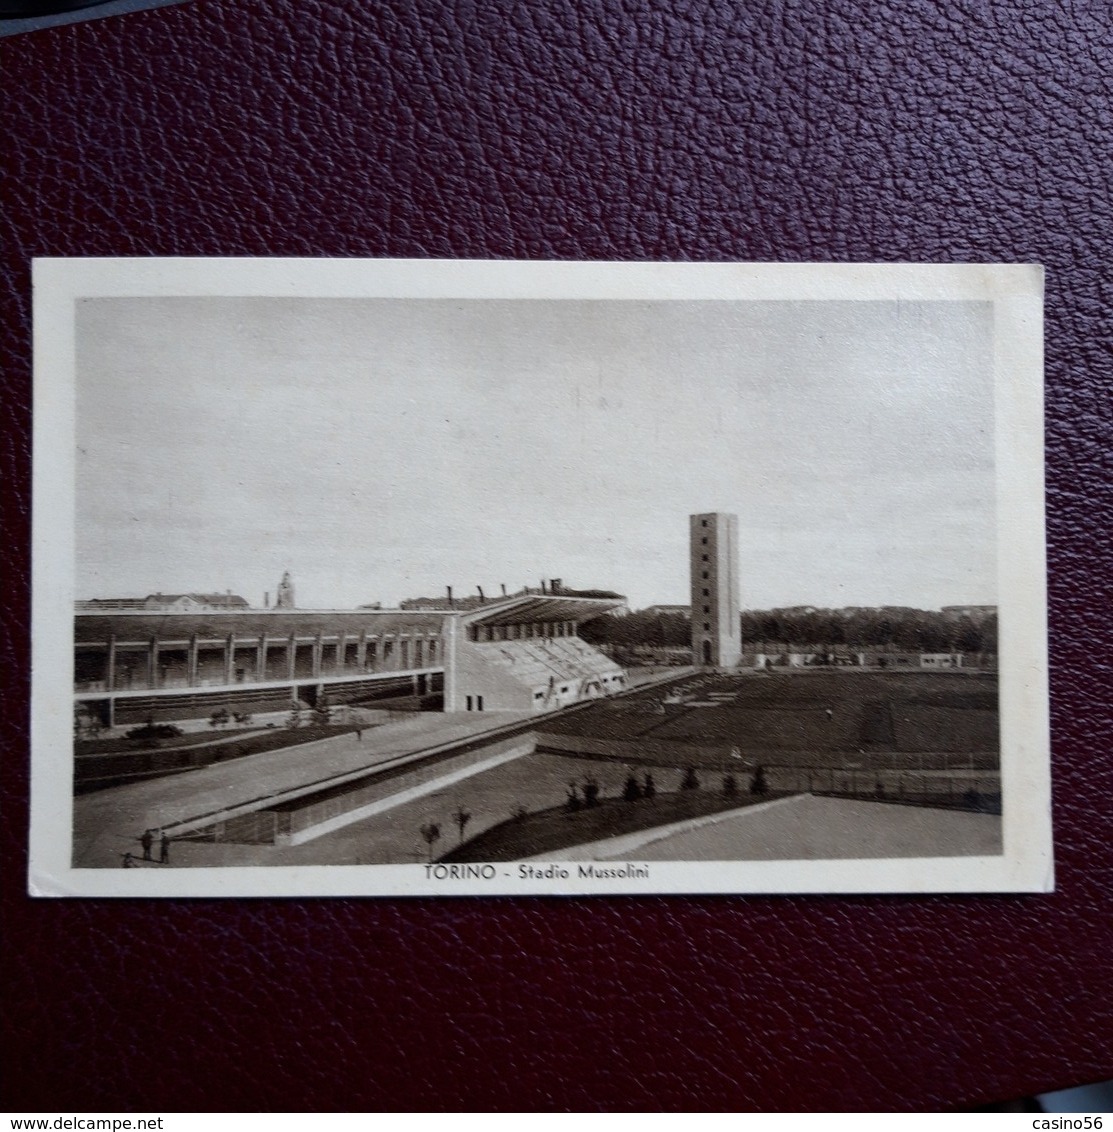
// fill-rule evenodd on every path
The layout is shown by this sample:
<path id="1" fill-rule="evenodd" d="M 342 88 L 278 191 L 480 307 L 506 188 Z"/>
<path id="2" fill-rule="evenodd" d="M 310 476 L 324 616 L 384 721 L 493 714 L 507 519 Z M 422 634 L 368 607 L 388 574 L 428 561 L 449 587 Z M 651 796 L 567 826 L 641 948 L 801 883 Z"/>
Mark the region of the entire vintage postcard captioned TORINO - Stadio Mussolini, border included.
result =
<path id="1" fill-rule="evenodd" d="M 1051 889 L 1042 289 L 36 261 L 32 891 Z"/>

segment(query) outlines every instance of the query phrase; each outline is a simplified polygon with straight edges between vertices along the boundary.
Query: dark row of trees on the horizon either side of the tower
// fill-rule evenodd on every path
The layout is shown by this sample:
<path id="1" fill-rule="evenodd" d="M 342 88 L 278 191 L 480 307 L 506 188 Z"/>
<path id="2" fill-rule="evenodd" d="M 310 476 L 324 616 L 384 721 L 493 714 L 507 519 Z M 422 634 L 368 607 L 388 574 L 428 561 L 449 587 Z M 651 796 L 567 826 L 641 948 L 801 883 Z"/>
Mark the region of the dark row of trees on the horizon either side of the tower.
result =
<path id="1" fill-rule="evenodd" d="M 761 644 L 892 648 L 907 652 L 998 651 L 996 616 L 949 617 L 933 609 L 770 609 L 744 612 L 742 640 Z M 692 621 L 684 614 L 643 609 L 625 617 L 599 617 L 581 626 L 591 644 L 614 648 L 683 649 L 691 643 Z"/>

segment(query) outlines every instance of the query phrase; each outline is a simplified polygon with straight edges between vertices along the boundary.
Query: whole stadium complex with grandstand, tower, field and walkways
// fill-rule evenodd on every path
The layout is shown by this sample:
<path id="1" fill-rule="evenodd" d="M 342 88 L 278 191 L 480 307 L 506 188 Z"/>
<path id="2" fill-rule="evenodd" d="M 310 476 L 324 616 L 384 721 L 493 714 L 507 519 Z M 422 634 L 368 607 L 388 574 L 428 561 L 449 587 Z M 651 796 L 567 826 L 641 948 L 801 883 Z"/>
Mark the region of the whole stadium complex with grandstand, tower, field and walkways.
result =
<path id="1" fill-rule="evenodd" d="M 690 663 L 656 671 L 580 634 L 620 594 L 559 580 L 399 609 L 297 609 L 289 577 L 275 608 L 86 603 L 75 864 L 151 829 L 179 866 L 1000 852 L 996 674 L 770 663 L 740 637 L 736 518 L 690 539 Z"/>

